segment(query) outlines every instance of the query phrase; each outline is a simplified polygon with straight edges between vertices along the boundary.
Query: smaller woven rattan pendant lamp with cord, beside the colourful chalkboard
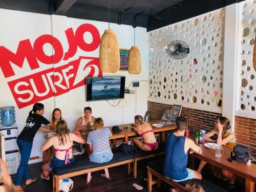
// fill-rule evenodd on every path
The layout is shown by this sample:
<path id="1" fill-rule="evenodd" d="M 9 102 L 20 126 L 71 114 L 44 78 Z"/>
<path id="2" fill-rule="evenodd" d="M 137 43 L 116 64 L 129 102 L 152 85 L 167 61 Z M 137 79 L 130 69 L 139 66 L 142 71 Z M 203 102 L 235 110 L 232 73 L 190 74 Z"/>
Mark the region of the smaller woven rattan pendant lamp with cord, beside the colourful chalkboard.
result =
<path id="1" fill-rule="evenodd" d="M 128 59 L 128 71 L 130 74 L 140 74 L 141 72 L 141 54 L 140 54 L 140 50 L 137 46 L 135 46 L 135 0 L 134 0 L 134 46 L 132 46 L 132 48 L 130 49 L 129 52 L 129 59 Z"/>

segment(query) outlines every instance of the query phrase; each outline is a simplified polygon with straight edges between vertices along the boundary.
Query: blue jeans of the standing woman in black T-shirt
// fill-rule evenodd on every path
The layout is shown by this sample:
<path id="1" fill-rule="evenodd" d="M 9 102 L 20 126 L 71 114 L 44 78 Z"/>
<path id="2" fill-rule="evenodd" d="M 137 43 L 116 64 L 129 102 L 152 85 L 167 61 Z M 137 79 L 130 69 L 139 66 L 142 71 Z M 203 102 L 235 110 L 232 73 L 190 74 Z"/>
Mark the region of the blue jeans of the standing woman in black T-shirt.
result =
<path id="1" fill-rule="evenodd" d="M 33 143 L 17 139 L 17 144 L 20 152 L 20 164 L 16 174 L 15 185 L 21 185 L 23 175 L 26 181 L 30 179 L 28 162 Z"/>

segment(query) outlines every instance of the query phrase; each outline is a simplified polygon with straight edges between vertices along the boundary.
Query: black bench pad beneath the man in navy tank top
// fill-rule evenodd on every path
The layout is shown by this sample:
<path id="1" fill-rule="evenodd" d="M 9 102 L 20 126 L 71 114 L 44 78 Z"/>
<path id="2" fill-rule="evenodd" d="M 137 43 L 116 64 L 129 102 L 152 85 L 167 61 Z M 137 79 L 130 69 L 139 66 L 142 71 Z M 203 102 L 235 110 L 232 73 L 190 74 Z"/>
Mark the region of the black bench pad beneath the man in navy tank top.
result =
<path id="1" fill-rule="evenodd" d="M 147 166 L 151 167 L 156 172 L 163 175 L 163 170 L 162 170 L 163 160 L 153 160 L 153 161 L 149 162 L 147 164 Z M 182 186 L 185 186 L 188 182 L 196 182 L 196 183 L 202 185 L 205 192 L 206 191 L 209 191 L 209 192 L 227 192 L 227 190 L 225 190 L 224 188 L 219 187 L 218 185 L 216 185 L 214 183 L 211 183 L 207 180 L 189 179 L 189 180 L 181 181 L 181 182 L 178 182 L 178 183 Z"/>

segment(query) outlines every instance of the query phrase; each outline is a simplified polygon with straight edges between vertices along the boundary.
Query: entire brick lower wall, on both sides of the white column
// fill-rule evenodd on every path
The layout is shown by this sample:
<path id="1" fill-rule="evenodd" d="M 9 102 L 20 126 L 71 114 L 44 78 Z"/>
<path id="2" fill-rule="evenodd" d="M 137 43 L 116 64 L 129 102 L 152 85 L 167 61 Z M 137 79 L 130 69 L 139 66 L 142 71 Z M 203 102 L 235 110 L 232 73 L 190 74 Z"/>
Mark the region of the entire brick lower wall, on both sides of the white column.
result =
<path id="1" fill-rule="evenodd" d="M 147 110 L 150 111 L 150 120 L 159 120 L 162 118 L 165 109 L 172 110 L 173 105 L 147 102 Z M 195 135 L 205 128 L 206 132 L 214 129 L 215 122 L 221 116 L 221 113 L 214 113 L 190 108 L 182 108 L 181 116 L 185 116 L 188 120 L 189 134 Z M 167 136 L 169 133 L 166 132 Z M 234 134 L 237 143 L 250 146 L 251 151 L 256 155 L 256 119 L 245 117 L 235 117 Z M 217 138 L 216 138 L 217 139 Z"/>

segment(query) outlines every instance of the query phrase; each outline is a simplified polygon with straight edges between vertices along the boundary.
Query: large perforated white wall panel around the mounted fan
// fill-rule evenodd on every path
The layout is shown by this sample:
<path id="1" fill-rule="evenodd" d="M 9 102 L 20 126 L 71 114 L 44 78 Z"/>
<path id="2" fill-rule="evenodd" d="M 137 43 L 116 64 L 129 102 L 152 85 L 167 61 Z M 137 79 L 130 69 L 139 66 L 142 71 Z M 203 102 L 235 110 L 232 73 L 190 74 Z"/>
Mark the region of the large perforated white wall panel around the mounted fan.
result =
<path id="1" fill-rule="evenodd" d="M 224 15 L 225 9 L 219 9 L 149 32 L 149 100 L 220 112 Z M 175 40 L 189 45 L 185 58 L 167 55 L 168 44 Z"/>

